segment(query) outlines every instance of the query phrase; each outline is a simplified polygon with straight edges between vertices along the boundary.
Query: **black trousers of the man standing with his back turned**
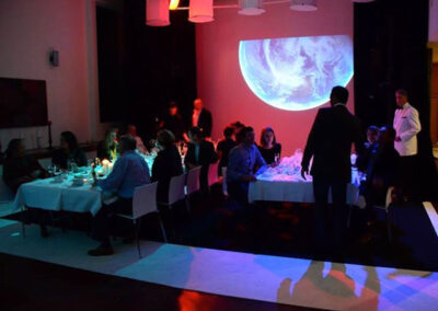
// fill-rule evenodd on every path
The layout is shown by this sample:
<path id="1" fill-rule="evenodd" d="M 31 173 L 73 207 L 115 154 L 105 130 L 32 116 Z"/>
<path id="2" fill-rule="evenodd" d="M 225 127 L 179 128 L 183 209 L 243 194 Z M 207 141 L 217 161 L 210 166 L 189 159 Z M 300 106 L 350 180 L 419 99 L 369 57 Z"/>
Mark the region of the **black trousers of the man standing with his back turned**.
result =
<path id="1" fill-rule="evenodd" d="M 328 191 L 333 199 L 333 234 L 327 235 L 328 224 Z M 342 246 L 342 237 L 346 230 L 347 182 L 313 176 L 313 195 L 315 199 L 315 245 L 321 249 L 330 244 L 327 237 L 332 235 L 333 246 Z"/>

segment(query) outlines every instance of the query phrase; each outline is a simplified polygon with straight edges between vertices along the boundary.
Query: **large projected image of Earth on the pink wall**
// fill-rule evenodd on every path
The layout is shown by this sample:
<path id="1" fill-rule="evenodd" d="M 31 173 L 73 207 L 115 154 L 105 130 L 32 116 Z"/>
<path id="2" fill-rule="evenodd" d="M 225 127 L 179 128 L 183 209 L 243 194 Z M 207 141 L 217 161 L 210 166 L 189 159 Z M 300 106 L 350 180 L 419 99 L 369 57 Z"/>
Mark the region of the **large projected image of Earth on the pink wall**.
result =
<path id="1" fill-rule="evenodd" d="M 265 103 L 304 111 L 326 103 L 353 77 L 346 35 L 241 41 L 239 62 L 250 89 Z"/>

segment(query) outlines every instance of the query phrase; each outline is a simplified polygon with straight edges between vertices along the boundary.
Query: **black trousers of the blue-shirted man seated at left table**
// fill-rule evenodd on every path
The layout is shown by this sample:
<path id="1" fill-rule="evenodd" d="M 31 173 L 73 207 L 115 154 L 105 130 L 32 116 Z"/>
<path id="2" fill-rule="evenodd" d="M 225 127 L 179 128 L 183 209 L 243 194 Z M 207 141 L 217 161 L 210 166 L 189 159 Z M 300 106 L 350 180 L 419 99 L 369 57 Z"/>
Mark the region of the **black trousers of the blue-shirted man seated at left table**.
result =
<path id="1" fill-rule="evenodd" d="M 118 199 L 110 205 L 103 205 L 93 219 L 93 238 L 103 244 L 110 244 L 111 217 L 114 214 L 132 214 L 132 198 Z"/>

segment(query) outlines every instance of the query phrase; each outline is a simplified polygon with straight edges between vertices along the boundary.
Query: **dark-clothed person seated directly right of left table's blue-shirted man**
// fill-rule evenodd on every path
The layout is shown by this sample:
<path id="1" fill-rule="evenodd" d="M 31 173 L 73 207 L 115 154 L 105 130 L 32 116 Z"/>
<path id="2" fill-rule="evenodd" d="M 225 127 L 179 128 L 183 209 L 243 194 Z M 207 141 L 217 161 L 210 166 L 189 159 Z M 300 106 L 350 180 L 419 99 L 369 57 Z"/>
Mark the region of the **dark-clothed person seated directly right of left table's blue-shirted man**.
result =
<path id="1" fill-rule="evenodd" d="M 158 182 L 157 200 L 166 203 L 171 177 L 183 173 L 180 152 L 174 145 L 175 137 L 170 130 L 161 129 L 157 134 L 159 150 L 152 164 L 152 182 Z"/>

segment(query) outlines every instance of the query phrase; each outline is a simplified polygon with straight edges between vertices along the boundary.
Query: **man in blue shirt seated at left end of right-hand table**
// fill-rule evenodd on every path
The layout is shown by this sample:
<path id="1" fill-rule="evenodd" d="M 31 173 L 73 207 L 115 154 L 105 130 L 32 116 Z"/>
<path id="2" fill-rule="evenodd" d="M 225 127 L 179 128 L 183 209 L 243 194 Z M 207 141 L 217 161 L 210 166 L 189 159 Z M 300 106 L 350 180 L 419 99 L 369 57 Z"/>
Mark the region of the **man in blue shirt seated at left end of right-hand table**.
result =
<path id="1" fill-rule="evenodd" d="M 242 206 L 247 206 L 250 182 L 255 182 L 254 173 L 260 168 L 266 168 L 258 148 L 254 145 L 255 134 L 250 126 L 239 133 L 241 143 L 234 147 L 228 158 L 227 186 L 230 197 Z"/>

